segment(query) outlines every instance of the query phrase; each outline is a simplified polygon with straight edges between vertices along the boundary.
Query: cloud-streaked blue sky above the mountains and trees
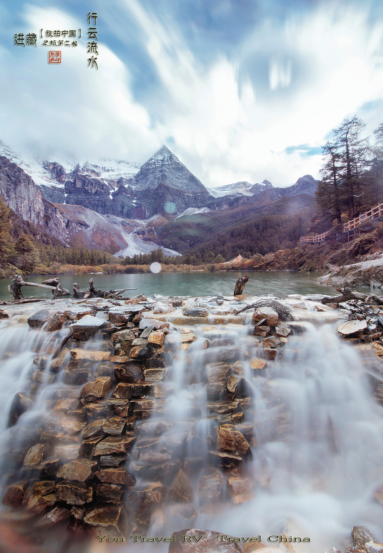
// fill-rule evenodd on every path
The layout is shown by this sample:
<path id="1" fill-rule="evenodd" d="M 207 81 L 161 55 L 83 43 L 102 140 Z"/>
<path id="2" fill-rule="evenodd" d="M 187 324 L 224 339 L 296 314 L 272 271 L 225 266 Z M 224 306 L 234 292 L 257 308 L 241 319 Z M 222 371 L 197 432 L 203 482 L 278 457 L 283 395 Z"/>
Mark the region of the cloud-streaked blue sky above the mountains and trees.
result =
<path id="1" fill-rule="evenodd" d="M 40 39 L 13 43 L 79 27 L 56 66 Z M 166 143 L 206 186 L 290 185 L 318 176 L 344 117 L 368 134 L 383 121 L 382 37 L 380 1 L 0 0 L 0 139 L 39 159 L 138 163 Z"/>

